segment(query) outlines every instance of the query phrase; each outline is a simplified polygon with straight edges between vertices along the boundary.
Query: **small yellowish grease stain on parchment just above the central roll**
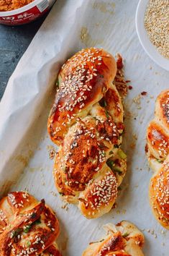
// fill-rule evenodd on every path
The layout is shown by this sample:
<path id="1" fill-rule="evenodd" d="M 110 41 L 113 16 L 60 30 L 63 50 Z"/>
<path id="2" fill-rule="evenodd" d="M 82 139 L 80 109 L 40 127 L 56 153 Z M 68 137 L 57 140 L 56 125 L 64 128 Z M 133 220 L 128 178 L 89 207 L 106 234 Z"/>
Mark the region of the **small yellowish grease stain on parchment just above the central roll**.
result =
<path id="1" fill-rule="evenodd" d="M 84 43 L 87 47 L 94 47 L 96 44 L 104 43 L 104 38 L 94 40 L 88 33 L 87 27 L 81 27 L 81 42 Z"/>

